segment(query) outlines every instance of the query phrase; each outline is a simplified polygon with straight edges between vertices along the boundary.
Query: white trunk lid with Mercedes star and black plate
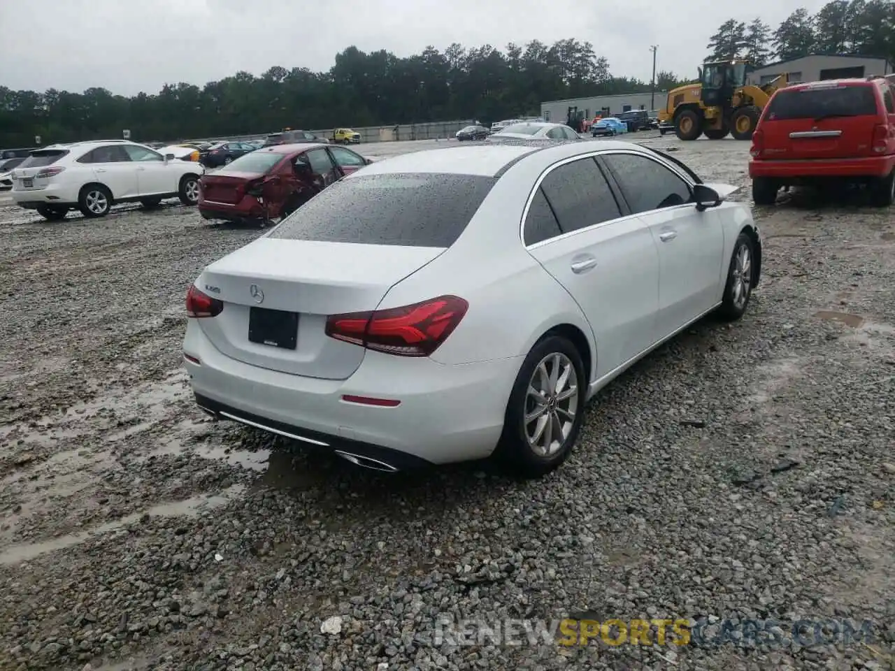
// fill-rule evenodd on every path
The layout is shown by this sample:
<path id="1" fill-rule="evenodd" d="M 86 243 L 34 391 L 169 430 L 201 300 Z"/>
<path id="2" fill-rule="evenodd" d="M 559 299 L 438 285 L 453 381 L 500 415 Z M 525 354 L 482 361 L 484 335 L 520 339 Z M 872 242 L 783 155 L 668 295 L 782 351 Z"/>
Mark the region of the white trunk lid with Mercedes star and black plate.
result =
<path id="1" fill-rule="evenodd" d="M 220 352 L 238 361 L 345 379 L 365 351 L 328 337 L 328 315 L 375 310 L 389 288 L 442 251 L 260 238 L 202 272 L 197 288 L 223 301 L 224 310 L 199 323 Z"/>

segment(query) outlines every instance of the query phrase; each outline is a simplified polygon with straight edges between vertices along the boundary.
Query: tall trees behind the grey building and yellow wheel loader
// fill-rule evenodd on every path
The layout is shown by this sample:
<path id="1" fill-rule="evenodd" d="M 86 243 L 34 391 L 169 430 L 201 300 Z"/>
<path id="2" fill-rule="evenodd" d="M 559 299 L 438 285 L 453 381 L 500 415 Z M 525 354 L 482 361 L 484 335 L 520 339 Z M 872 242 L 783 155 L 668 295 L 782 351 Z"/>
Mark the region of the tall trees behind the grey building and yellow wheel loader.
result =
<path id="1" fill-rule="evenodd" d="M 832 0 L 804 7 L 771 30 L 761 19 L 724 21 L 706 46 L 710 60 L 745 57 L 756 65 L 808 54 L 859 54 L 895 63 L 895 0 Z"/>

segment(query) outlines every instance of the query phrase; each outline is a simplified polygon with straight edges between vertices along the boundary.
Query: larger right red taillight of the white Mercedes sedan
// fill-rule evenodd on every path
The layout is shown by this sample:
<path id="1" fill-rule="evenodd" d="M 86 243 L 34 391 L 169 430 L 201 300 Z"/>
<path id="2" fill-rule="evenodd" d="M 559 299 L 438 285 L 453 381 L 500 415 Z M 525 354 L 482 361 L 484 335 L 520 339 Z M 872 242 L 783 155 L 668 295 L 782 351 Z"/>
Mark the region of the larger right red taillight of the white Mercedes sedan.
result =
<path id="1" fill-rule="evenodd" d="M 429 356 L 453 333 L 468 308 L 462 298 L 439 296 L 403 308 L 332 315 L 326 334 L 377 352 Z"/>

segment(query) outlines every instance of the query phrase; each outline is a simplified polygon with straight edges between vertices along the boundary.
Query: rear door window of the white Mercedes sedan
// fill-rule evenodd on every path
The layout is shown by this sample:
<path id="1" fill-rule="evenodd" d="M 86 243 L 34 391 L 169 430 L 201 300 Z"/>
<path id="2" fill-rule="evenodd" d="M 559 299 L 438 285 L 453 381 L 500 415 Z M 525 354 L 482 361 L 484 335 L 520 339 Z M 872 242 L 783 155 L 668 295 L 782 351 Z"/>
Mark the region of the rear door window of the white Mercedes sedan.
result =
<path id="1" fill-rule="evenodd" d="M 551 171 L 541 182 L 541 189 L 563 233 L 621 217 L 609 183 L 592 157 Z"/>

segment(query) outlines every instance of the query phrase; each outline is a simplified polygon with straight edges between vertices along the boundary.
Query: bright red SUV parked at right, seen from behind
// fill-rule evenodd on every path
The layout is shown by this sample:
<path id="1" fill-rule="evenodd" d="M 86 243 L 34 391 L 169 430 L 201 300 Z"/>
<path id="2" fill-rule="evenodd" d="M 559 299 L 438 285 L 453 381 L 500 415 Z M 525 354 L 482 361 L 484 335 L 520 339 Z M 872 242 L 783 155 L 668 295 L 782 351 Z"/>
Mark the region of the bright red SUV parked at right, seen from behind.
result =
<path id="1" fill-rule="evenodd" d="M 895 89 L 882 77 L 813 81 L 779 89 L 752 136 L 749 176 L 756 205 L 780 187 L 866 183 L 874 205 L 895 200 Z"/>

